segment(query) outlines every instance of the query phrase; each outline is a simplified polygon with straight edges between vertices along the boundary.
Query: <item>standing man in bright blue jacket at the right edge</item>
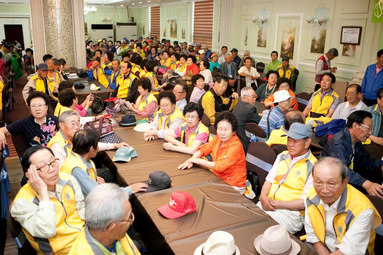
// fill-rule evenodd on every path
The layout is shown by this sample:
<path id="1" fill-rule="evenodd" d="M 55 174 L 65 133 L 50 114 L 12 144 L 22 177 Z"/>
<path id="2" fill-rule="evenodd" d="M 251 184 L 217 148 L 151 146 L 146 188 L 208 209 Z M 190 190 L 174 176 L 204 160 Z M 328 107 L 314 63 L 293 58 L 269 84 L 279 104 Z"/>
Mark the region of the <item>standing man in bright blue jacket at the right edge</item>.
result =
<path id="1" fill-rule="evenodd" d="M 376 92 L 383 88 L 383 49 L 378 51 L 376 60 L 376 64 L 367 67 L 362 81 L 363 102 L 367 106 L 376 104 Z"/>

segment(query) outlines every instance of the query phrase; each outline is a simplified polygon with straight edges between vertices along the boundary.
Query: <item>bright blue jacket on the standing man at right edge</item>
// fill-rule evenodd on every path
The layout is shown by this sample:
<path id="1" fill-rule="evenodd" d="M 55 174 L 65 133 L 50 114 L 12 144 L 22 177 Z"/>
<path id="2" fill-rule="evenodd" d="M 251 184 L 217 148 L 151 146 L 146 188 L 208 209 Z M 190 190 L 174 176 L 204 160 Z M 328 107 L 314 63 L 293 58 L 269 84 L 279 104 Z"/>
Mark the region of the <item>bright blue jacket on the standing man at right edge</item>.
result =
<path id="1" fill-rule="evenodd" d="M 383 87 L 383 71 L 376 74 L 376 63 L 367 67 L 361 87 L 365 98 L 376 99 L 378 89 Z"/>

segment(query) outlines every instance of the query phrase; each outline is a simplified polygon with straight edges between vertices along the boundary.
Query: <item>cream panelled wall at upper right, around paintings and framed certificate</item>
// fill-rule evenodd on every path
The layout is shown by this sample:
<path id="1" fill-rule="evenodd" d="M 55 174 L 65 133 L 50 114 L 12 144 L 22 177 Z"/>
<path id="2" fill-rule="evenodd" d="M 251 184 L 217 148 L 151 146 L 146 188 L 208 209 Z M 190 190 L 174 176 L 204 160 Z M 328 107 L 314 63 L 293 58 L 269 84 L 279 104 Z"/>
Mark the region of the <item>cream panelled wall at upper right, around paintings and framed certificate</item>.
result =
<path id="1" fill-rule="evenodd" d="M 340 81 L 350 81 L 355 71 L 364 71 L 367 65 L 376 60 L 376 52 L 381 39 L 381 23 L 371 23 L 373 0 L 231 0 L 229 15 L 229 43 L 228 48 L 239 50 L 239 54 L 245 49 L 251 52 L 257 62 L 268 64 L 270 52 L 281 51 L 280 34 L 282 26 L 288 21 L 296 25 L 294 59 L 290 64 L 300 71 L 297 81 L 297 92 L 313 92 L 315 82 L 315 63 L 321 54 L 310 53 L 312 26 L 309 26 L 305 18 L 314 16 L 315 9 L 321 4 L 329 8 L 327 20 L 327 33 L 324 51 L 335 47 L 339 51 L 339 57 L 331 61 L 332 67 L 337 67 L 336 78 Z M 260 10 L 268 10 L 267 47 L 257 47 L 258 26 L 250 20 L 252 16 L 259 16 Z M 288 16 L 295 16 L 289 18 Z M 316 18 L 316 17 L 315 17 Z M 214 21 L 218 22 L 217 13 Z M 278 22 L 278 24 L 277 24 Z M 248 26 L 248 42 L 244 46 L 244 28 Z M 356 46 L 355 57 L 342 56 L 342 44 L 340 44 L 341 26 L 362 26 L 360 45 Z M 214 24 L 216 26 L 216 24 Z M 278 26 L 278 28 L 277 28 Z M 314 26 L 318 26 L 317 24 Z M 218 43 L 218 30 L 214 34 L 214 46 Z"/>

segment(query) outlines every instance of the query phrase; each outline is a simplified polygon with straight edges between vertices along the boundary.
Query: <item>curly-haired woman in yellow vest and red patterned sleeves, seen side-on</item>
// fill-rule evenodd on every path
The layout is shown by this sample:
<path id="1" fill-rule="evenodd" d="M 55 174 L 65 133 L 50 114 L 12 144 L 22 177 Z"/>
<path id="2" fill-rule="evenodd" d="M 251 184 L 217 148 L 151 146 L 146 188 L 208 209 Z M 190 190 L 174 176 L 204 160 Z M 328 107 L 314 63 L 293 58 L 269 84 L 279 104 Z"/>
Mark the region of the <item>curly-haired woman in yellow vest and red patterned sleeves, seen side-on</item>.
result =
<path id="1" fill-rule="evenodd" d="M 150 61 L 148 61 L 150 62 Z M 139 78 L 137 80 L 137 90 L 140 93 L 136 104 L 126 105 L 129 110 L 134 111 L 138 116 L 145 119 L 151 119 L 157 110 L 157 99 L 151 93 L 152 84 L 149 78 Z"/>

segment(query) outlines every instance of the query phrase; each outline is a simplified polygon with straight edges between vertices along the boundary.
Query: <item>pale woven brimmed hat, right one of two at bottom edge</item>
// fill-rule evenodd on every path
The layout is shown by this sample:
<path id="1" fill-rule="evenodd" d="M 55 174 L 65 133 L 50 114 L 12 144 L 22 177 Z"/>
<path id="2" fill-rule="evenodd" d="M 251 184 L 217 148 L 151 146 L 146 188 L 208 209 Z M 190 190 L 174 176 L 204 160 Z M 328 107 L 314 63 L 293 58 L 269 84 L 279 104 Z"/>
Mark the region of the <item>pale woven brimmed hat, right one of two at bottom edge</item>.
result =
<path id="1" fill-rule="evenodd" d="M 301 247 L 290 238 L 283 225 L 275 225 L 265 230 L 254 240 L 255 250 L 261 255 L 296 255 Z"/>

